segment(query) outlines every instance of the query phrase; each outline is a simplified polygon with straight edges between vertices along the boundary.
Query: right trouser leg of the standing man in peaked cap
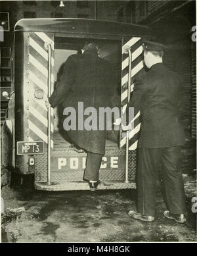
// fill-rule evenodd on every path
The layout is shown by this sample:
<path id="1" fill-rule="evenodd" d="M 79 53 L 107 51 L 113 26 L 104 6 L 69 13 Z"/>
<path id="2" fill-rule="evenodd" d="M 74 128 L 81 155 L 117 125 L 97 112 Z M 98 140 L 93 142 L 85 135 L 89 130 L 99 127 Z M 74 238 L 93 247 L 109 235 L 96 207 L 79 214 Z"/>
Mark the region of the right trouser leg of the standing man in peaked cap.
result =
<path id="1" fill-rule="evenodd" d="M 164 192 L 170 213 L 181 215 L 186 212 L 185 190 L 182 172 L 179 169 L 181 147 L 167 147 L 162 153 Z"/>

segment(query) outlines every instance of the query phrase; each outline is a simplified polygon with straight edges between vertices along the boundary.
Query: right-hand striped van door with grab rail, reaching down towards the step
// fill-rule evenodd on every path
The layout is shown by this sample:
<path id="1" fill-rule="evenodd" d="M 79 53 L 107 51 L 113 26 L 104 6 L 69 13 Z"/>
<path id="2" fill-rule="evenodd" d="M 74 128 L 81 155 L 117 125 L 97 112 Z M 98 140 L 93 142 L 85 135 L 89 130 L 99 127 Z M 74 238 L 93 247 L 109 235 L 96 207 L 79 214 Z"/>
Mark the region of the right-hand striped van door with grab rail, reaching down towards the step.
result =
<path id="1" fill-rule="evenodd" d="M 123 113 L 130 101 L 135 78 L 144 73 L 142 38 L 123 38 L 121 62 L 121 107 Z M 136 149 L 141 127 L 140 113 L 131 120 L 132 130 L 120 130 L 120 148 L 125 147 L 125 182 L 129 182 L 129 172 L 135 173 Z M 122 128 L 122 127 L 121 127 Z"/>

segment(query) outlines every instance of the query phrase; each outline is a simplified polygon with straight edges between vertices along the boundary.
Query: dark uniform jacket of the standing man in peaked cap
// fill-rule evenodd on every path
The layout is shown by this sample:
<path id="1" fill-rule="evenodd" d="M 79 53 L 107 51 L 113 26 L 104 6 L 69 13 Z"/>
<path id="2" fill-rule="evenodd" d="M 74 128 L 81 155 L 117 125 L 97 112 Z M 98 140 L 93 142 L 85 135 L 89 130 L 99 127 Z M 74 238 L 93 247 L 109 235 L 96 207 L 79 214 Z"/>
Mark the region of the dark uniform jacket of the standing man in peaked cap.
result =
<path id="1" fill-rule="evenodd" d="M 141 111 L 138 147 L 183 145 L 185 134 L 179 118 L 183 85 L 179 75 L 163 63 L 154 64 L 135 82 L 129 107 Z"/>

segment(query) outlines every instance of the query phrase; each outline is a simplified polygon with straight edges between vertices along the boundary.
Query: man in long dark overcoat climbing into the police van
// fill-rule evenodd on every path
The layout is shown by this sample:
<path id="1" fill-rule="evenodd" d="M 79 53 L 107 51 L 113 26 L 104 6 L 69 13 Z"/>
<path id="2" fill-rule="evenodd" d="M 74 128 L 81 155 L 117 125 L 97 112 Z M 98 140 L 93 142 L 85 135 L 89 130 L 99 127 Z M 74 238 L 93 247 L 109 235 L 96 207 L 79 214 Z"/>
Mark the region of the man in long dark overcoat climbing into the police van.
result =
<path id="1" fill-rule="evenodd" d="M 99 57 L 95 41 L 86 42 L 83 50 L 83 54 L 71 55 L 66 60 L 62 76 L 49 97 L 49 103 L 51 107 L 62 104 L 63 109 L 74 108 L 76 120 L 79 116 L 78 103 L 83 104 L 84 110 L 88 107 L 97 110 L 98 118 L 93 120 L 90 130 L 81 126 L 77 126 L 76 130 L 68 130 L 68 136 L 74 144 L 87 152 L 83 178 L 89 181 L 91 190 L 96 190 L 106 142 L 106 131 L 99 130 L 99 107 L 112 107 L 114 104 L 112 100 L 117 90 L 114 79 L 116 74 L 112 64 Z M 85 118 L 87 117 L 84 116 L 84 121 Z"/>

